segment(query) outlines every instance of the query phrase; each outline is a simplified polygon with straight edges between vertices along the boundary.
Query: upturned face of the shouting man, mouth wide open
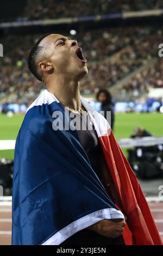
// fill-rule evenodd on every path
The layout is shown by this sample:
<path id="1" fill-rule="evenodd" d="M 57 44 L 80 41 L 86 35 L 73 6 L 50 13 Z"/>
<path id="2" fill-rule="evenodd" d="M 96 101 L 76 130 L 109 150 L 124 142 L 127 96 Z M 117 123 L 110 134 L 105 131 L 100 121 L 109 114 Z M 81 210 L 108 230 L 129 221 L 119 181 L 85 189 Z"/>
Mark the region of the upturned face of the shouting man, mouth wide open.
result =
<path id="1" fill-rule="evenodd" d="M 69 78 L 78 80 L 87 74 L 86 59 L 76 40 L 70 40 L 60 34 L 51 34 L 46 36 L 39 46 L 44 46 L 43 55 L 45 60 L 53 65 L 54 74 L 67 74 Z"/>

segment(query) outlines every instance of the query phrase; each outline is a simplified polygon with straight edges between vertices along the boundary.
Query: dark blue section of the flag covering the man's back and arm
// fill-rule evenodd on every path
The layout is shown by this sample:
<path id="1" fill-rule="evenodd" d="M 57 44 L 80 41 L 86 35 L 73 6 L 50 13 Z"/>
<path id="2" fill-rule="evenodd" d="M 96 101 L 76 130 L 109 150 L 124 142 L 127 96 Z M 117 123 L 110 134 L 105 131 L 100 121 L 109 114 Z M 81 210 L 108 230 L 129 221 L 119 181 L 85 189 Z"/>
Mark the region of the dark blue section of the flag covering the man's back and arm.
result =
<path id="1" fill-rule="evenodd" d="M 60 103 L 33 106 L 18 133 L 12 195 L 12 245 L 39 245 L 76 220 L 114 209 L 77 131 L 52 129 Z"/>

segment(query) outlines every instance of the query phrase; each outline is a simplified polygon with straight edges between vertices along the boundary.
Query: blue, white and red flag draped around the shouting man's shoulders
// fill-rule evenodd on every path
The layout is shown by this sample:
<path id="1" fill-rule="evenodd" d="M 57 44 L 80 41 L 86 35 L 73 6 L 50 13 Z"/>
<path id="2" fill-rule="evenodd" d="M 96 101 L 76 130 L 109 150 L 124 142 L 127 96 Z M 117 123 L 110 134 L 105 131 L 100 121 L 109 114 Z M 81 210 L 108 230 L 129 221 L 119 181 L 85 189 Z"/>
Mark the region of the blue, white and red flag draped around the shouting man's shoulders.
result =
<path id="1" fill-rule="evenodd" d="M 77 131 L 53 129 L 55 113 L 64 116 L 65 111 L 45 90 L 28 108 L 16 139 L 12 245 L 59 245 L 89 225 L 123 219 L 123 214 L 128 218 L 126 243 L 160 245 L 146 199 L 108 123 L 81 100 L 97 130 L 123 209 L 111 202 Z"/>

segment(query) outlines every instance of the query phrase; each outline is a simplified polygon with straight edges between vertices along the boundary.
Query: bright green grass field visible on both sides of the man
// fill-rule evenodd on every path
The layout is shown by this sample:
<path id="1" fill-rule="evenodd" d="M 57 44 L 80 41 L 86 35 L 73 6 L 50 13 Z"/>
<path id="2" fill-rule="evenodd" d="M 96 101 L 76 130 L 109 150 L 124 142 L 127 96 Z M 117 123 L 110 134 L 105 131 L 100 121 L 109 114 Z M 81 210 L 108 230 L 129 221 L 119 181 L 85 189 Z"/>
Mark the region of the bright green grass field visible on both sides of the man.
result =
<path id="1" fill-rule="evenodd" d="M 0 140 L 16 139 L 24 115 L 7 117 L 0 114 Z M 142 126 L 154 136 L 163 136 L 163 115 L 160 113 L 117 113 L 114 133 L 117 139 L 128 138 L 136 126 Z M 126 153 L 126 150 L 124 150 Z M 14 150 L 0 150 L 0 157 L 14 158 Z"/>

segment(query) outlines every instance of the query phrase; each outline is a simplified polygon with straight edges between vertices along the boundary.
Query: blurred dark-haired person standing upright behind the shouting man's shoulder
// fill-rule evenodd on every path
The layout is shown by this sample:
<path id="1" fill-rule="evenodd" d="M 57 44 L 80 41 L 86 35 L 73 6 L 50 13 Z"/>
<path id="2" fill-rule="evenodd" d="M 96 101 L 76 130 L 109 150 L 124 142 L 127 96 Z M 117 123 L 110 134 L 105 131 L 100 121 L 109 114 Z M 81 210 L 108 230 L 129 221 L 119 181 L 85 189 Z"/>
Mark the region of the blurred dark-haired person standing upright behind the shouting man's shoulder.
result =
<path id="1" fill-rule="evenodd" d="M 114 107 L 112 103 L 112 96 L 110 92 L 106 89 L 101 89 L 98 91 L 96 95 L 97 101 L 101 102 L 101 109 L 100 111 L 104 111 L 104 118 L 106 119 L 107 117 L 107 111 L 110 111 L 111 114 L 111 120 L 109 122 L 111 129 L 114 129 L 114 120 L 115 120 L 115 115 L 114 115 Z"/>

